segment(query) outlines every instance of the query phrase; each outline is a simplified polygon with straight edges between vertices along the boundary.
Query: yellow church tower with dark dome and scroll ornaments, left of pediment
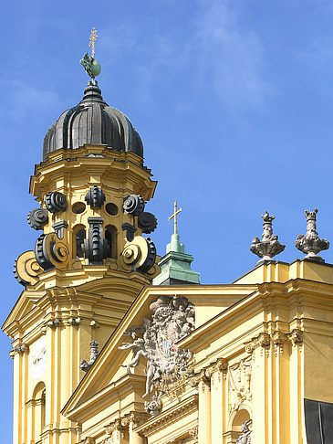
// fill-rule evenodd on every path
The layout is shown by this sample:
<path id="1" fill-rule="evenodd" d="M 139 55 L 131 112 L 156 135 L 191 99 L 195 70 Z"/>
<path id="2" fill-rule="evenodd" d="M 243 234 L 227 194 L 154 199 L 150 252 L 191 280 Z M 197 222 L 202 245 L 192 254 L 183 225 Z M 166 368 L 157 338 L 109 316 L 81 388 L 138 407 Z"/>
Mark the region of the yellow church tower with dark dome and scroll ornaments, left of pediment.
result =
<path id="1" fill-rule="evenodd" d="M 94 52 L 81 64 L 91 77 L 83 99 L 50 126 L 31 176 L 39 206 L 28 223 L 39 233 L 16 260 L 25 290 L 3 326 L 13 341 L 15 444 L 80 440 L 80 424 L 60 411 L 160 270 L 145 236 L 157 226 L 145 211 L 156 182 L 140 135 L 103 100 Z"/>

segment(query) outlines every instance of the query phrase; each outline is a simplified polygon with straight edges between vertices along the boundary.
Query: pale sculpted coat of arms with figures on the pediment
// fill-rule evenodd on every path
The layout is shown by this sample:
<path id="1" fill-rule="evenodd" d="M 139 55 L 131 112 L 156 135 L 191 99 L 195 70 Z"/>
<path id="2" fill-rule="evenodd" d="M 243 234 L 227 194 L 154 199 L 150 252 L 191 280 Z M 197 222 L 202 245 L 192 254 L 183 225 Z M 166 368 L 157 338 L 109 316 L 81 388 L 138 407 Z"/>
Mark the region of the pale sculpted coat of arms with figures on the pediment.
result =
<path id="1" fill-rule="evenodd" d="M 139 327 L 130 327 L 125 334 L 132 342 L 122 344 L 120 350 L 133 352 L 133 358 L 126 365 L 129 373 L 131 367 L 140 364 L 141 357 L 147 360 L 143 397 L 148 398 L 155 392 L 152 402 L 146 403 L 147 410 L 154 415 L 159 410 L 158 400 L 165 386 L 187 372 L 192 354 L 178 348 L 176 343 L 194 330 L 194 305 L 183 296 L 160 296 L 151 303 L 150 309 L 151 319 L 145 318 Z"/>

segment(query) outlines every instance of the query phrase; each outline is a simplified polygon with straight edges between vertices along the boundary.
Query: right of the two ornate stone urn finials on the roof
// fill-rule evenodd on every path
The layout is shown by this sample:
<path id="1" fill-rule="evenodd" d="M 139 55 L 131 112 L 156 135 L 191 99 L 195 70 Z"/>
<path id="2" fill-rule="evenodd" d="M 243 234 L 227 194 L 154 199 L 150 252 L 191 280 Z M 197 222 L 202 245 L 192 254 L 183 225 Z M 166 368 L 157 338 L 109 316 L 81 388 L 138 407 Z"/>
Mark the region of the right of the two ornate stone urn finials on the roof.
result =
<path id="1" fill-rule="evenodd" d="M 307 234 L 298 235 L 295 241 L 295 247 L 305 253 L 305 259 L 316 260 L 317 262 L 325 262 L 320 256 L 317 256 L 319 251 L 329 248 L 327 239 L 319 239 L 317 234 L 317 208 L 313 211 L 306 210 L 305 217 L 307 217 Z"/>

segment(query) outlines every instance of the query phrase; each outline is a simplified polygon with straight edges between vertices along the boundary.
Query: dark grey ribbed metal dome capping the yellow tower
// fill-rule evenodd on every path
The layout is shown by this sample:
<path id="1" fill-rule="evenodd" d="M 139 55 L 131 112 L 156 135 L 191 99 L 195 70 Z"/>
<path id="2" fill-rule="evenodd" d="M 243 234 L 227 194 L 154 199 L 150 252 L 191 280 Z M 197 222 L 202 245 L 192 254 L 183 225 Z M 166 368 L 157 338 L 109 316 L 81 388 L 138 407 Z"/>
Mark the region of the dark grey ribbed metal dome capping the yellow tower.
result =
<path id="1" fill-rule="evenodd" d="M 47 160 L 48 153 L 61 148 L 76 150 L 86 143 L 106 144 L 110 150 L 130 151 L 143 157 L 139 133 L 125 114 L 103 100 L 96 80 L 88 82 L 78 105 L 64 111 L 48 129 L 43 161 Z"/>

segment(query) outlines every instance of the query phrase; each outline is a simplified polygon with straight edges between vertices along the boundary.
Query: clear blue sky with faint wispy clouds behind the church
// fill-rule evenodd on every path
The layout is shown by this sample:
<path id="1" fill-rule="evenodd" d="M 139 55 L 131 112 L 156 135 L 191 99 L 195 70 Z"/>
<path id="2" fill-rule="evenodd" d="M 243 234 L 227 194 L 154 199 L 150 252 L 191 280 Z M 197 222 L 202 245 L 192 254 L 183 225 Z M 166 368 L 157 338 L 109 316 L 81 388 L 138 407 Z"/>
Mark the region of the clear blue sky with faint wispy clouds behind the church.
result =
<path id="1" fill-rule="evenodd" d="M 16 0 L 2 12 L 2 321 L 23 289 L 14 260 L 38 236 L 26 223 L 36 207 L 29 176 L 47 128 L 81 99 L 88 77 L 79 59 L 92 26 L 103 97 L 140 132 L 159 181 L 147 210 L 159 219 L 151 238 L 160 255 L 175 199 L 203 283 L 228 283 L 255 266 L 249 246 L 266 209 L 286 244 L 280 260 L 303 257 L 294 241 L 307 208 L 317 206 L 319 236 L 333 242 L 331 1 Z M 322 256 L 333 263 L 333 247 Z M 0 347 L 2 441 L 10 442 L 4 333 Z"/>

